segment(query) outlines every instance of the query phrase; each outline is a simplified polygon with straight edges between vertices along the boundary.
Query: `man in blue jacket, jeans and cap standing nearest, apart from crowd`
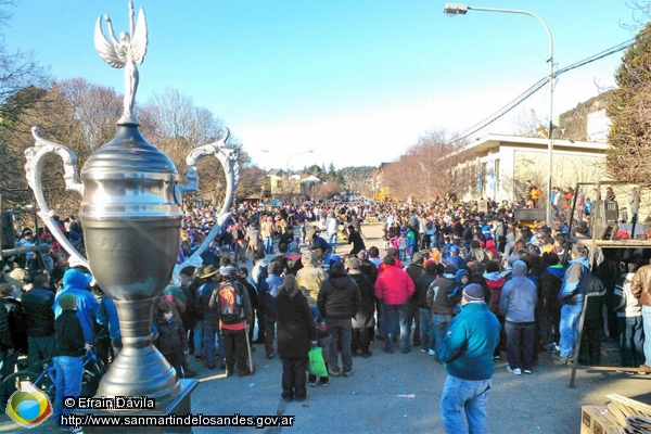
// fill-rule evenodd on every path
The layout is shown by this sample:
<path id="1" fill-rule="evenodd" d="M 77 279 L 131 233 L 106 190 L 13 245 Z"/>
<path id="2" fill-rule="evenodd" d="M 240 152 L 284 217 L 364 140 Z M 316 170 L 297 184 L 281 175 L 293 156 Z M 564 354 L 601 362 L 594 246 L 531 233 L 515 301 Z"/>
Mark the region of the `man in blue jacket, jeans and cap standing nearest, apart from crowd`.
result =
<path id="1" fill-rule="evenodd" d="M 463 289 L 461 312 L 452 319 L 438 358 L 448 376 L 443 386 L 441 413 L 448 434 L 486 433 L 486 403 L 493 383 L 493 352 L 500 324 L 484 301 L 484 289 Z M 463 420 L 468 420 L 468 429 Z"/>

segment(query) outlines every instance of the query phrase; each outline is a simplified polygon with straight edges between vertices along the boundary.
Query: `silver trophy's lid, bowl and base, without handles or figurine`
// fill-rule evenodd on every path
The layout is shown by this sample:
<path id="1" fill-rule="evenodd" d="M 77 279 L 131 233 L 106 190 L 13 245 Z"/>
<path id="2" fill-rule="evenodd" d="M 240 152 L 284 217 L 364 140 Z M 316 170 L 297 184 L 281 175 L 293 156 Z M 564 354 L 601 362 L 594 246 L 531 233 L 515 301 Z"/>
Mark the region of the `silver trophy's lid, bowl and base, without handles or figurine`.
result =
<path id="1" fill-rule="evenodd" d="M 152 347 L 151 334 L 154 299 L 178 258 L 178 174 L 137 126 L 118 128 L 115 139 L 93 152 L 81 170 L 79 217 L 88 261 L 100 288 L 115 302 L 123 340 L 98 395 L 149 396 L 158 406 L 180 388 L 175 371 Z"/>

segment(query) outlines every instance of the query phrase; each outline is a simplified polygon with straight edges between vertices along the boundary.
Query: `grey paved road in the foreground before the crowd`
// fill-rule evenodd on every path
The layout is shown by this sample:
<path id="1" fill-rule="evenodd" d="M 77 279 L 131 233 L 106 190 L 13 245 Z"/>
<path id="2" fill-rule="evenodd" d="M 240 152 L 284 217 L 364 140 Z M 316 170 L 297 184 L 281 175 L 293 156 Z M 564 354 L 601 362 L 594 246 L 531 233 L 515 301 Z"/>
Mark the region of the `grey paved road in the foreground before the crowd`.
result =
<path id="1" fill-rule="evenodd" d="M 381 246 L 379 225 L 363 227 L 370 245 Z M 343 251 L 343 248 L 342 248 Z M 304 403 L 289 403 L 285 416 L 295 416 L 293 427 L 266 429 L 267 433 L 443 433 L 439 400 L 446 378 L 443 366 L 420 350 L 404 355 L 386 354 L 381 342 L 371 345 L 373 356 L 354 359 L 350 378 L 331 379 L 328 386 L 310 387 Z M 267 360 L 264 347 L 256 345 L 256 373 L 247 378 L 226 378 L 221 371 L 207 371 L 195 361 L 200 385 L 192 396 L 192 411 L 203 414 L 276 414 L 280 405 L 279 359 Z M 532 375 L 515 376 L 506 371 L 506 361 L 496 362 L 493 390 L 488 397 L 490 433 L 578 433 L 580 407 L 604 405 L 605 395 L 616 393 L 638 397 L 651 391 L 651 376 L 603 376 L 577 372 L 576 387 L 569 388 L 570 368 L 557 367 L 552 358 L 540 356 Z M 413 397 L 405 397 L 413 395 Z M 649 396 L 643 396 L 649 401 Z M 15 431 L 3 417 L 0 432 Z M 56 432 L 48 427 L 36 432 Z M 246 427 L 196 427 L 196 433 L 254 432 Z M 257 431 L 259 432 L 259 430 Z"/>

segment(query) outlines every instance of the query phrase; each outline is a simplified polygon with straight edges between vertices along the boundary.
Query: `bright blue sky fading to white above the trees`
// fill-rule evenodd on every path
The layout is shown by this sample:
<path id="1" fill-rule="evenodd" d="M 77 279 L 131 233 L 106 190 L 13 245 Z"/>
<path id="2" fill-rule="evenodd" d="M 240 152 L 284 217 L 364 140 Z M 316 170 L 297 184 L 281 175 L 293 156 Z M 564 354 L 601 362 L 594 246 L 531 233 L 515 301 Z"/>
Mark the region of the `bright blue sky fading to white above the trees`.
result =
<path id="1" fill-rule="evenodd" d="M 547 34 L 534 18 L 480 11 L 450 18 L 445 3 L 136 1 L 136 10 L 145 10 L 150 40 L 137 101 L 179 89 L 222 118 L 266 168 L 284 167 L 288 159 L 292 168 L 393 161 L 427 131 L 465 130 L 548 74 Z M 634 36 L 621 26 L 634 23 L 624 0 L 469 4 L 540 16 L 553 36 L 558 67 Z M 127 5 L 20 0 L 4 41 L 33 50 L 55 78 L 84 77 L 122 93 L 123 71 L 99 58 L 92 38 L 98 16 L 106 13 L 116 33 L 127 30 Z M 622 54 L 559 77 L 554 115 L 614 86 Z M 545 122 L 548 87 L 473 138 L 511 133 L 532 110 Z"/>

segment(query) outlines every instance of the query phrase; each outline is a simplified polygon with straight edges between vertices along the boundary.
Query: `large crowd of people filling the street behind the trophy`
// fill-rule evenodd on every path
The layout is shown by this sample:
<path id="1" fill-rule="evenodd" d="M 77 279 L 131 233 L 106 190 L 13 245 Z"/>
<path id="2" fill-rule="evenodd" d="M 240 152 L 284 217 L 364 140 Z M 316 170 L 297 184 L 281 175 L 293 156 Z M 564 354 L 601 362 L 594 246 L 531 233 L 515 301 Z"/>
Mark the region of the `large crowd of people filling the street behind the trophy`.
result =
<path id="1" fill-rule="evenodd" d="M 382 245 L 367 246 L 367 218 L 382 222 Z M 81 250 L 82 229 L 74 217 L 68 220 L 62 227 Z M 179 261 L 216 220 L 210 206 L 187 212 Z M 585 237 L 583 228 L 572 235 Z M 20 231 L 18 244 L 34 244 L 33 233 Z M 37 233 L 40 248 L 4 258 L 0 374 L 13 371 L 18 353 L 27 353 L 37 369 L 52 355 L 75 358 L 94 345 L 110 362 L 120 349 L 115 305 L 88 270 L 66 267 L 47 230 Z M 463 425 L 463 408 L 471 431 L 481 432 L 494 361 L 502 356 L 515 375 L 534 373 L 545 353 L 557 354 L 559 366 L 597 366 L 601 343 L 616 339 L 623 367 L 651 371 L 651 343 L 644 340 L 651 332 L 651 320 L 644 321 L 651 318 L 650 256 L 604 251 L 591 269 L 587 248 L 569 244 L 569 237 L 562 219 L 532 229 L 513 220 L 512 206 L 489 200 L 459 203 L 450 196 L 429 206 L 243 203 L 202 254 L 203 267 L 182 269 L 180 285 L 170 283 L 156 301 L 154 342 L 179 378 L 196 374 L 191 362 L 228 376 L 250 375 L 252 348 L 264 345 L 268 359 L 282 361 L 286 400 L 304 400 L 307 386 L 329 384 L 327 376 L 308 375 L 314 347 L 322 349 L 329 376 L 343 378 L 353 374 L 355 357 L 373 355 L 373 342 L 388 354 L 396 346 L 404 354 L 420 348 L 448 372 L 442 398 L 448 432 Z M 22 348 L 10 327 L 16 317 L 11 299 L 25 314 Z M 71 321 L 68 310 L 75 310 L 82 336 L 62 353 L 56 321 Z M 77 368 L 58 367 L 76 375 Z"/>

